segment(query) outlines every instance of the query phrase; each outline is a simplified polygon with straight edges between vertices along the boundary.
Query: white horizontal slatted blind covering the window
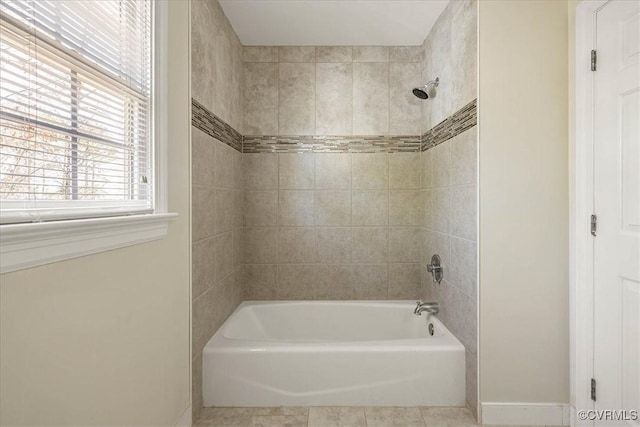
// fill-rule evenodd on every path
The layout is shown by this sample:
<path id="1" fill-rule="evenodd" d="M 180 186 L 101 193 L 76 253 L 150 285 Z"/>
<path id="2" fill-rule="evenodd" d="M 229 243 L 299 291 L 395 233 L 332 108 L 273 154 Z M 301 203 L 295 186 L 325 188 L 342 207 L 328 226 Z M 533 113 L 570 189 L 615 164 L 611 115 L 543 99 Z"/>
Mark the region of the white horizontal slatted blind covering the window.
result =
<path id="1" fill-rule="evenodd" d="M 0 2 L 0 222 L 153 211 L 151 9 Z"/>

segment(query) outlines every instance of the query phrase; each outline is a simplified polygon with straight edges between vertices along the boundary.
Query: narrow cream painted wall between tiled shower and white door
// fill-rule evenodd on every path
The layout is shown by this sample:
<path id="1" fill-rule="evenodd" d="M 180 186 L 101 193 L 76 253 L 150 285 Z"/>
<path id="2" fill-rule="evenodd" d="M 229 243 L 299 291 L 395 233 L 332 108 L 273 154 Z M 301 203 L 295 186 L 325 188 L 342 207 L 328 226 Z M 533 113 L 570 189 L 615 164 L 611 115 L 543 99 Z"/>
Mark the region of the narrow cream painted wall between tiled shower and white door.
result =
<path id="1" fill-rule="evenodd" d="M 479 15 L 480 400 L 567 403 L 567 3 Z"/>

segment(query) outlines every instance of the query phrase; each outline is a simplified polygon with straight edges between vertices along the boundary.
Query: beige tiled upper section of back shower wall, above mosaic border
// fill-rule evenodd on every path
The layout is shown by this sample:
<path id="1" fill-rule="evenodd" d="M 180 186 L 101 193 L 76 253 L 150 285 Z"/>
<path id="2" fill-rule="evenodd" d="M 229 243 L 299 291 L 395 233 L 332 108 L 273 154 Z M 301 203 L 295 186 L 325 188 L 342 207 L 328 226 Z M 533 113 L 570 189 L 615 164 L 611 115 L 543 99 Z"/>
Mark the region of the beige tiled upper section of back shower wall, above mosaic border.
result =
<path id="1" fill-rule="evenodd" d="M 423 50 L 244 48 L 244 135 L 418 135 Z"/>

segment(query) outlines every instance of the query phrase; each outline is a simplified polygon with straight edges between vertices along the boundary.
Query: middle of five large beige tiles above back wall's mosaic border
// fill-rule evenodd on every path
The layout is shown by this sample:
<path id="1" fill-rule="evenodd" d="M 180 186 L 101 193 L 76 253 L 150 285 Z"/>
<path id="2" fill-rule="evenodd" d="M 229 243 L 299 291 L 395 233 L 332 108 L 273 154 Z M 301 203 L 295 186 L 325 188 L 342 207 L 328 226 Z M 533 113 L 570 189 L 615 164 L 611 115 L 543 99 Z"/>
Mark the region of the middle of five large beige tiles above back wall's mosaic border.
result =
<path id="1" fill-rule="evenodd" d="M 351 62 L 316 64 L 316 135 L 351 135 L 352 87 Z"/>

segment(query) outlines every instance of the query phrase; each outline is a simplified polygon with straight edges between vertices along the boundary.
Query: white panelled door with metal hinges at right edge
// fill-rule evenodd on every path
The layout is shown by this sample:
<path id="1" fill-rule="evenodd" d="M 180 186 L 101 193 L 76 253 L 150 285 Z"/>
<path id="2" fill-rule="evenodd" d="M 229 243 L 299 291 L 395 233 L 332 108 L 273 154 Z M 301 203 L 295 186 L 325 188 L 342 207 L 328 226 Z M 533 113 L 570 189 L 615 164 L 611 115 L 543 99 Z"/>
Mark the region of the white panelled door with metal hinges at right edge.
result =
<path id="1" fill-rule="evenodd" d="M 614 0 L 596 15 L 596 410 L 640 410 L 639 12 L 637 0 Z M 640 426 L 640 421 L 595 425 Z"/>

